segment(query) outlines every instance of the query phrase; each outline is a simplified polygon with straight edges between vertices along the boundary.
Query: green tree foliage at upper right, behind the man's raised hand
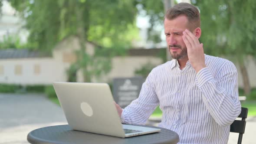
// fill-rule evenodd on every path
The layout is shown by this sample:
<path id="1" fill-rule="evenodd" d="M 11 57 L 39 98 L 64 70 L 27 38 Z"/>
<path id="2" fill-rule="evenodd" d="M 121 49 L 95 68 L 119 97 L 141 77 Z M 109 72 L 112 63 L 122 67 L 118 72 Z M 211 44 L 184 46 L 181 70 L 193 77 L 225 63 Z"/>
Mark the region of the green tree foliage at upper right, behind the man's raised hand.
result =
<path id="1" fill-rule="evenodd" d="M 201 13 L 201 41 L 211 55 L 256 55 L 255 0 L 197 0 Z M 238 57 L 237 57 L 238 59 Z M 240 60 L 240 59 L 239 59 Z"/>

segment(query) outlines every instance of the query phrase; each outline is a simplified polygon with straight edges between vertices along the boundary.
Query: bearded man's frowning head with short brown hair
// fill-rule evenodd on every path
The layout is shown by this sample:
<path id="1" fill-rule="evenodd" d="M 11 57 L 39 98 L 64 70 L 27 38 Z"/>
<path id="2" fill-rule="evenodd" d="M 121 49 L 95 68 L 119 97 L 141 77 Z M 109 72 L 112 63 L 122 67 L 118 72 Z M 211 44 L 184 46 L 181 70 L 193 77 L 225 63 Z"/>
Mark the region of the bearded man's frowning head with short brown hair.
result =
<path id="1" fill-rule="evenodd" d="M 164 33 L 173 59 L 187 57 L 187 47 L 182 39 L 182 32 L 188 29 L 197 38 L 201 36 L 200 13 L 190 3 L 178 3 L 167 10 L 164 17 Z"/>

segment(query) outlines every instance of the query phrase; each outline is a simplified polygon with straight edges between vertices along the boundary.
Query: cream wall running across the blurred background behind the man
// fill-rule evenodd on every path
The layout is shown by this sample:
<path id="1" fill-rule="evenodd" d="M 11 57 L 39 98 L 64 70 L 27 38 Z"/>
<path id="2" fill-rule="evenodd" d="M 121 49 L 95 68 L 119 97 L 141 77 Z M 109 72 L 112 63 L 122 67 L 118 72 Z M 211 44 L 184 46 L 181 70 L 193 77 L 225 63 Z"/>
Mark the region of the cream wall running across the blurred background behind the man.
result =
<path id="1" fill-rule="evenodd" d="M 62 51 L 63 52 L 63 51 Z M 49 85 L 52 82 L 66 82 L 66 70 L 70 63 L 65 62 L 63 53 L 57 52 L 54 58 L 33 59 L 0 59 L 0 83 L 22 85 Z M 65 51 L 64 51 L 65 52 Z M 118 77 L 135 76 L 135 70 L 150 62 L 160 65 L 162 60 L 154 56 L 116 56 L 112 59 L 112 70 L 101 77 L 92 78 L 92 82 L 112 82 Z M 238 71 L 239 86 L 243 87 L 243 79 L 239 65 L 234 62 Z M 256 62 L 253 57 L 248 57 L 246 67 L 249 82 L 256 87 Z M 82 72 L 78 72 L 78 82 L 82 82 Z"/>

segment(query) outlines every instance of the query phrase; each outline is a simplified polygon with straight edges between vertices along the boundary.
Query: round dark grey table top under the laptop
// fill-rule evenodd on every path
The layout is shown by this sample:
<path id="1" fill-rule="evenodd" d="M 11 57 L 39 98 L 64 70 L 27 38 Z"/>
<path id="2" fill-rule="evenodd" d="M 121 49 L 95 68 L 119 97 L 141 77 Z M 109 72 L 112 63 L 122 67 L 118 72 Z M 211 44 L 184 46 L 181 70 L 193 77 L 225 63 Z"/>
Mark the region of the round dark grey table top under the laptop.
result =
<path id="1" fill-rule="evenodd" d="M 146 125 L 139 126 L 158 128 Z M 69 125 L 56 125 L 31 131 L 27 135 L 27 140 L 31 144 L 177 144 L 179 141 L 177 133 L 165 128 L 160 129 L 159 133 L 120 138 L 74 131 Z"/>

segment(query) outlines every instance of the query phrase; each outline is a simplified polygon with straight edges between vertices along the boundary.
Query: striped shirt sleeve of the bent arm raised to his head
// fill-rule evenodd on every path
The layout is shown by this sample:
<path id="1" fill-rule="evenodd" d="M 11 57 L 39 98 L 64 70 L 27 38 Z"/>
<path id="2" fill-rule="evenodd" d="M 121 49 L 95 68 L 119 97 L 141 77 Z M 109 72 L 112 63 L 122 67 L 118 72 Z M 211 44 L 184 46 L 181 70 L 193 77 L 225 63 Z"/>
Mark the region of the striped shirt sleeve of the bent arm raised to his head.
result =
<path id="1" fill-rule="evenodd" d="M 241 112 L 235 65 L 226 62 L 215 78 L 207 67 L 203 68 L 197 72 L 196 83 L 213 119 L 221 126 L 232 124 Z"/>

